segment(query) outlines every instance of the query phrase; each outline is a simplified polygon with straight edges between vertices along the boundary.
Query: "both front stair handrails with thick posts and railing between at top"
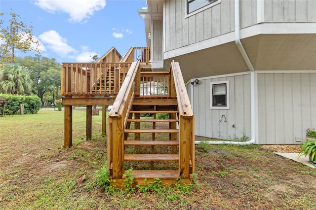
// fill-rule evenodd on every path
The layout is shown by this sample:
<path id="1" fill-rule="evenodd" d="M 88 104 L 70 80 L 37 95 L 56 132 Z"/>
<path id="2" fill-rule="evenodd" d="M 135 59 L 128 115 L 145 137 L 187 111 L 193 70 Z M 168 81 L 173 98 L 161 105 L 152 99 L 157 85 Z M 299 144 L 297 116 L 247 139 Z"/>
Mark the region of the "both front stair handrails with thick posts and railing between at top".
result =
<path id="1" fill-rule="evenodd" d="M 155 97 L 160 94 L 177 98 L 179 111 L 179 175 L 181 178 L 189 178 L 192 174 L 190 168 L 194 169 L 195 162 L 194 116 L 179 63 L 174 61 L 171 63 L 169 72 L 150 73 L 140 72 L 140 62 L 132 63 L 109 113 L 108 166 L 110 174 L 114 179 L 122 178 L 124 173 L 124 130 L 127 119 L 131 117 L 129 111 L 135 96 L 153 96 L 140 94 L 148 90 L 148 85 L 144 85 L 148 84 L 148 81 L 150 83 L 157 82 L 157 86 L 154 86 L 157 87 L 157 90 L 158 87 L 168 83 L 167 91 L 159 90 Z M 151 88 L 151 86 L 149 87 Z M 164 88 L 161 89 L 165 90 Z"/>

